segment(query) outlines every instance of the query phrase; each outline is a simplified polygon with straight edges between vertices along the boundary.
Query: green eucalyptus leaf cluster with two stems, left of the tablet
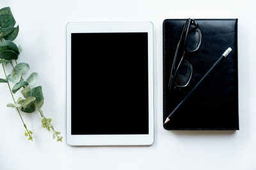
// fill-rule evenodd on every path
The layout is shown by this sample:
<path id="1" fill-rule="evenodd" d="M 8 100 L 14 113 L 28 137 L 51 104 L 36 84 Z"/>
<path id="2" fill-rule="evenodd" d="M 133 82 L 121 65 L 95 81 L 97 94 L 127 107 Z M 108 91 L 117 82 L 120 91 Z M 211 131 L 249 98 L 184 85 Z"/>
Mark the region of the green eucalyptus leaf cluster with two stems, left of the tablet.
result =
<path id="1" fill-rule="evenodd" d="M 9 7 L 2 8 L 0 10 L 0 64 L 2 64 L 4 69 L 4 64 L 10 63 L 13 71 L 12 74 L 6 75 L 5 69 L 4 74 L 5 78 L 0 78 L 0 83 L 8 83 L 8 87 L 10 89 L 10 93 L 13 98 L 13 103 L 7 104 L 7 107 L 15 108 L 19 115 L 20 111 L 25 113 L 33 113 L 35 110 L 38 110 L 40 116 L 42 117 L 42 127 L 47 129 L 47 131 L 53 132 L 53 138 L 57 137 L 57 141 L 62 141 L 63 137 L 60 136 L 60 132 L 55 131 L 52 125 L 52 119 L 46 118 L 44 116 L 43 111 L 41 110 L 44 104 L 44 96 L 42 93 L 42 87 L 29 87 L 31 85 L 35 85 L 36 81 L 38 81 L 38 73 L 31 73 L 26 80 L 23 79 L 24 76 L 29 71 L 29 64 L 25 62 L 17 63 L 17 59 L 21 52 L 21 46 L 15 45 L 13 40 L 17 38 L 19 33 L 19 25 L 15 27 L 16 21 L 12 15 L 12 11 Z M 15 61 L 16 66 L 13 66 L 12 60 Z M 15 83 L 12 89 L 10 87 L 10 82 Z M 24 97 L 19 97 L 17 101 L 15 101 L 13 94 L 16 94 L 20 89 L 21 94 Z M 24 124 L 24 120 L 21 115 L 20 118 Z M 33 141 L 33 132 L 28 130 L 26 124 L 24 124 L 26 129 L 25 136 L 28 136 L 29 140 Z"/>

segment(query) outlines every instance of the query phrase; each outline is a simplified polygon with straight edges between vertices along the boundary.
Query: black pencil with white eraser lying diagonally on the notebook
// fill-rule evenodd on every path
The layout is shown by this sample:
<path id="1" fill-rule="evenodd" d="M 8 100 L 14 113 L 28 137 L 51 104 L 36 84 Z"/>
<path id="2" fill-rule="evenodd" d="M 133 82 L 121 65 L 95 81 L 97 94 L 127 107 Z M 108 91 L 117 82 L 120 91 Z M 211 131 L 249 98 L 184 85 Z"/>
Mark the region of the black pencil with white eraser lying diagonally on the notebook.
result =
<path id="1" fill-rule="evenodd" d="M 175 111 L 180 107 L 181 104 L 184 103 L 184 101 L 186 101 L 186 99 L 188 99 L 188 97 L 195 91 L 195 89 L 200 85 L 200 83 L 202 83 L 202 81 L 205 80 L 205 78 L 207 78 L 207 76 L 209 76 L 209 74 L 212 72 L 212 70 L 221 62 L 221 60 L 225 57 L 227 57 L 228 53 L 230 53 L 232 50 L 232 48 L 228 47 L 228 49 L 221 55 L 221 57 L 216 60 L 216 62 L 212 65 L 212 67 L 209 69 L 209 71 L 207 71 L 207 73 L 204 74 L 204 76 L 201 78 L 200 81 L 198 81 L 198 83 L 195 85 L 195 87 L 189 92 L 189 94 L 184 97 L 184 99 L 176 106 L 176 108 L 172 111 L 172 113 L 170 113 L 170 115 L 166 118 L 166 120 L 164 121 L 164 124 L 166 124 L 167 122 L 170 121 L 170 117 L 172 117 L 173 113 L 175 113 Z"/>

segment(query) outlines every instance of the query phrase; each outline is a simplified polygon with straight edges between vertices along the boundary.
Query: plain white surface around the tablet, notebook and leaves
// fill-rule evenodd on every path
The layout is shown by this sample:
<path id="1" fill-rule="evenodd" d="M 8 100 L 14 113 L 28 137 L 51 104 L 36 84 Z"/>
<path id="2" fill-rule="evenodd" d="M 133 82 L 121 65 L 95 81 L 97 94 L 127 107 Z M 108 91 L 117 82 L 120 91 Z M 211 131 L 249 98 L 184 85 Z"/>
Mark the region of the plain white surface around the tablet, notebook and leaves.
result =
<path id="1" fill-rule="evenodd" d="M 256 169 L 256 57 L 254 1 L 36 1 L 1 0 L 20 26 L 19 62 L 40 75 L 42 110 L 65 136 L 65 25 L 70 21 L 154 23 L 156 140 L 152 146 L 71 147 L 57 143 L 41 126 L 39 114 L 22 113 L 35 141 L 28 141 L 6 84 L 0 84 L 0 169 Z M 166 131 L 163 129 L 163 20 L 239 18 L 240 131 Z M 79 59 L 77 59 L 79 62 Z M 10 72 L 10 70 L 8 71 Z M 3 69 L 0 77 L 3 78 Z M 223 80 L 224 81 L 224 80 Z M 20 93 L 15 95 L 17 99 Z M 83 99 L 83 96 L 81 96 Z M 81 106 L 81 112 L 86 108 Z"/>

